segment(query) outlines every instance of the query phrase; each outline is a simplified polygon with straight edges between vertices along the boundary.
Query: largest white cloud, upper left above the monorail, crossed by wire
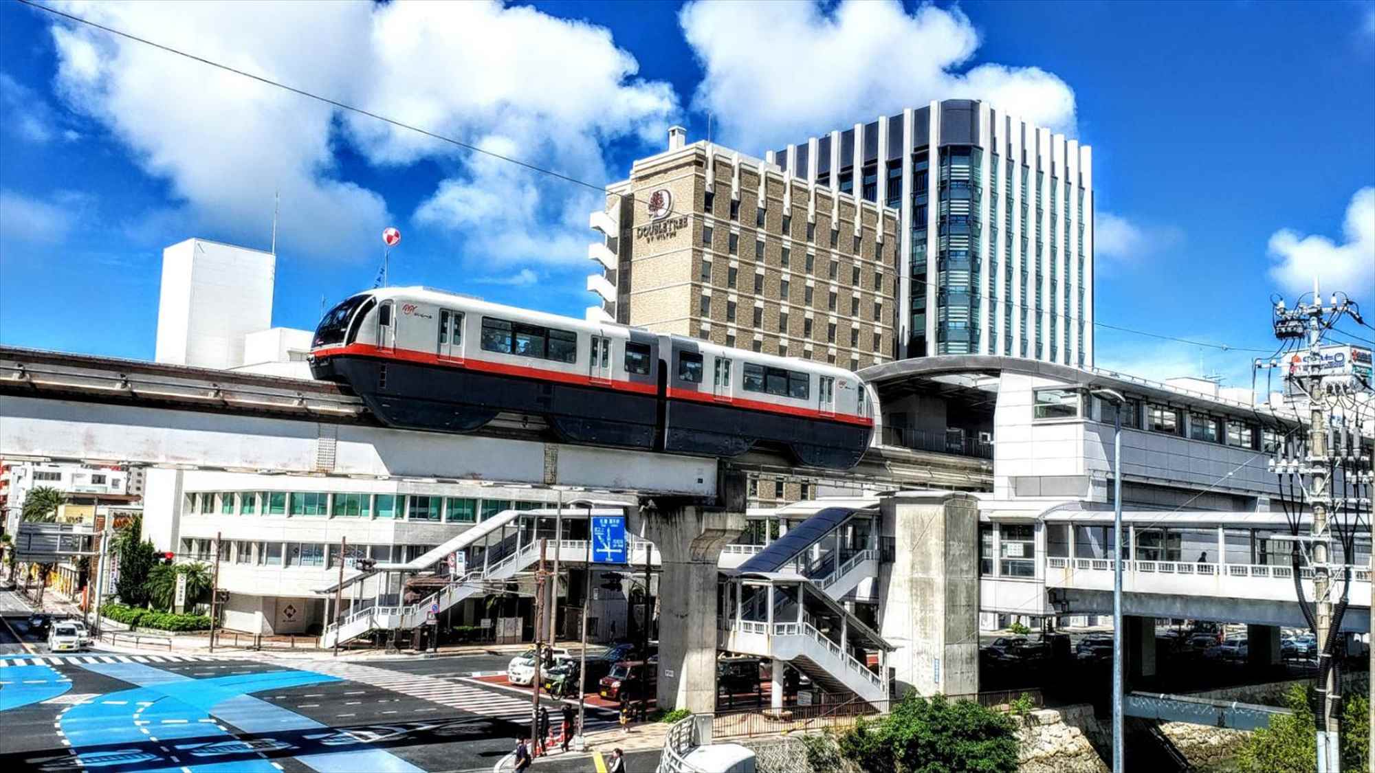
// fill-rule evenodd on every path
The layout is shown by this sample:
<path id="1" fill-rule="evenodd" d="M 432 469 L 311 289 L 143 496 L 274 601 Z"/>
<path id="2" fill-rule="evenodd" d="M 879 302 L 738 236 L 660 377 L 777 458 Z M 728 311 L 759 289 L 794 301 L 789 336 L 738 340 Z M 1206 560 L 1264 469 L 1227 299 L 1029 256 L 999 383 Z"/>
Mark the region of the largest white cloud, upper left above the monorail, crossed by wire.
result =
<path id="1" fill-rule="evenodd" d="M 634 78 L 637 62 L 608 30 L 532 8 L 286 1 L 254 4 L 253 14 L 234 3 L 65 10 L 436 133 L 484 146 L 520 138 L 505 146 L 512 155 L 591 182 L 608 177 L 602 143 L 657 133 L 676 110 L 667 84 Z M 58 23 L 52 34 L 67 102 L 107 125 L 146 172 L 169 180 L 192 224 L 263 241 L 280 190 L 285 250 L 371 256 L 390 217 L 381 195 L 341 177 L 338 151 L 348 143 L 377 165 L 439 160 L 450 179 L 415 219 L 502 248 L 484 260 L 550 260 L 550 245 L 565 260 L 580 252 L 564 243 L 575 223 L 564 202 L 576 193 L 565 183 L 84 26 Z M 521 212 L 538 220 L 516 228 L 492 190 L 534 199 L 522 199 Z M 578 204 L 582 242 L 590 201 Z M 474 202 L 499 217 L 468 210 Z"/>

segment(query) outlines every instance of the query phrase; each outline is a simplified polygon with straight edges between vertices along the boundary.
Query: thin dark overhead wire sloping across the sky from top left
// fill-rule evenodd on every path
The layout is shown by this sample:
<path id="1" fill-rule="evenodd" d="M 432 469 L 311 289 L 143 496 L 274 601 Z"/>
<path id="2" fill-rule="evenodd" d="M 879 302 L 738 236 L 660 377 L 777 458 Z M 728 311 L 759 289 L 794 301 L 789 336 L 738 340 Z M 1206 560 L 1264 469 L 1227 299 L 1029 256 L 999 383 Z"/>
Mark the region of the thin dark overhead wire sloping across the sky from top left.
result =
<path id="1" fill-rule="evenodd" d="M 307 99 L 312 99 L 312 100 L 316 100 L 316 102 L 320 102 L 320 103 L 324 103 L 324 105 L 329 105 L 331 107 L 337 107 L 340 110 L 345 110 L 345 111 L 349 111 L 349 113 L 356 113 L 359 116 L 366 116 L 366 117 L 373 118 L 375 121 L 382 121 L 384 124 L 388 124 L 388 125 L 392 125 L 392 127 L 396 127 L 396 128 L 400 128 L 400 129 L 411 131 L 411 132 L 415 132 L 418 135 L 426 136 L 429 139 L 434 139 L 434 140 L 439 140 L 439 142 L 443 142 L 443 143 L 452 144 L 455 147 L 461 147 L 463 150 L 469 150 L 469 151 L 473 151 L 473 153 L 480 153 L 480 154 L 491 157 L 491 158 L 496 158 L 496 160 L 500 160 L 500 161 L 516 164 L 517 166 L 521 166 L 524 169 L 529 169 L 532 172 L 539 172 L 542 175 L 549 175 L 550 177 L 554 177 L 554 179 L 558 179 L 558 180 L 562 180 L 562 182 L 566 182 L 566 183 L 572 183 L 575 186 L 580 186 L 580 187 L 584 187 L 584 188 L 590 188 L 590 190 L 594 190 L 594 191 L 601 193 L 601 194 L 606 193 L 606 186 L 605 184 L 588 183 L 587 180 L 582 180 L 582 179 L 573 177 L 571 175 L 565 175 L 562 172 L 557 172 L 554 169 L 549 169 L 546 166 L 540 166 L 540 165 L 532 164 L 529 161 L 522 161 L 520 158 L 514 158 L 514 157 L 505 155 L 505 154 L 500 154 L 500 153 L 494 153 L 491 150 L 485 150 L 485 149 L 478 147 L 478 146 L 476 146 L 473 143 L 463 142 L 463 140 L 452 138 L 452 136 L 441 135 L 439 132 L 433 132 L 433 131 L 425 129 L 422 127 L 417 127 L 414 124 L 407 124 L 406 121 L 390 118 L 390 117 L 382 116 L 380 113 L 374 113 L 371 110 L 366 110 L 363 107 L 358 107 L 355 105 L 349 105 L 349 103 L 342 102 L 340 99 L 333 99 L 333 98 L 329 98 L 329 96 L 323 96 L 323 95 L 315 94 L 312 91 L 307 91 L 307 89 L 300 88 L 300 87 L 294 87 L 294 85 L 289 85 L 289 84 L 285 84 L 282 81 L 278 81 L 278 80 L 272 80 L 272 78 L 265 77 L 265 76 L 250 73 L 248 70 L 241 70 L 238 67 L 232 67 L 230 65 L 224 65 L 221 62 L 216 62 L 216 61 L 208 59 L 205 56 L 199 56 L 199 55 L 195 55 L 195 54 L 191 54 L 191 52 L 187 52 L 187 51 L 182 51 L 179 48 L 173 48 L 170 45 L 165 45 L 162 43 L 157 43 L 157 41 L 148 40 L 146 37 L 140 37 L 140 36 L 136 36 L 136 34 L 132 34 L 132 33 L 128 33 L 128 32 L 124 32 L 124 30 L 120 30 L 120 29 L 114 29 L 114 28 L 107 26 L 107 25 L 102 25 L 99 22 L 94 22 L 91 19 L 85 19 L 85 18 L 78 17 L 76 14 L 69 14 L 66 11 L 59 11 L 56 8 L 50 8 L 47 6 L 36 3 L 33 0 L 18 0 L 18 1 L 22 3 L 22 4 L 25 4 L 25 6 L 29 6 L 30 8 L 36 8 L 38 11 L 43 11 L 45 14 L 51 14 L 54 17 L 60 17 L 63 19 L 67 19 L 67 21 L 72 21 L 72 22 L 76 22 L 76 23 L 80 23 L 80 25 L 87 25 L 89 28 L 99 29 L 99 30 L 106 32 L 109 34 L 113 34 L 113 36 L 117 36 L 117 37 L 122 37 L 125 40 L 132 40 L 135 43 L 142 43 L 143 45 L 150 45 L 150 47 L 157 48 L 160 51 L 164 51 L 166 54 L 172 54 L 172 55 L 176 55 L 176 56 L 191 59 L 192 62 L 199 62 L 202 65 L 206 65 L 206 66 L 210 66 L 210 67 L 214 67 L 214 69 L 219 69 L 219 70 L 224 70 L 227 73 L 232 73 L 232 74 L 236 74 L 236 76 L 241 76 L 241 77 L 245 77 L 245 78 L 261 83 L 264 85 L 279 88 L 279 89 L 287 91 L 290 94 L 294 94 L 297 96 L 304 96 Z M 626 195 L 631 201 L 637 201 L 637 198 L 634 197 L 634 194 L 626 194 Z M 671 215 L 686 215 L 683 212 L 674 212 L 674 210 L 670 210 L 670 213 Z M 899 260 L 901 260 L 901 256 L 899 256 Z M 916 285 L 918 282 L 916 279 L 912 279 L 912 283 Z M 938 286 L 935 282 L 931 282 L 931 281 L 924 281 L 921 283 L 931 285 L 931 286 Z M 1009 300 L 998 300 L 998 298 L 994 298 L 994 297 L 991 297 L 989 294 L 982 294 L 980 293 L 978 297 L 983 298 L 983 300 L 987 300 L 989 303 L 993 303 L 993 304 L 1005 304 L 1008 307 L 1016 305 L 1016 304 L 1013 304 Z M 1026 304 L 1023 304 L 1023 307 L 1024 308 L 1030 308 Z M 1037 314 L 1040 315 L 1041 312 L 1037 312 Z M 1056 316 L 1056 318 L 1066 319 L 1066 320 L 1078 319 L 1078 318 L 1074 318 L 1074 316 L 1071 316 L 1068 314 L 1059 312 L 1059 311 L 1049 311 L 1049 314 L 1053 315 L 1053 316 Z M 1151 331 L 1147 331 L 1147 330 L 1137 330 L 1137 329 L 1133 329 L 1133 327 L 1126 327 L 1126 326 L 1122 326 L 1122 325 L 1111 325 L 1111 323 L 1107 323 L 1107 322 L 1097 322 L 1097 320 L 1094 320 L 1093 325 L 1096 327 L 1104 327 L 1104 329 L 1108 329 L 1108 330 L 1118 330 L 1118 331 L 1122 331 L 1122 333 L 1132 333 L 1132 334 L 1136 334 L 1136 336 L 1145 336 L 1145 337 L 1158 338 L 1158 340 L 1162 340 L 1162 341 L 1176 341 L 1176 342 L 1187 344 L 1187 345 L 1191 345 L 1191 347 L 1206 347 L 1206 348 L 1213 348 L 1213 349 L 1218 349 L 1218 351 L 1224 351 L 1224 352 L 1228 352 L 1228 351 L 1235 351 L 1235 352 L 1264 352 L 1265 351 L 1265 349 L 1255 349 L 1255 348 L 1247 348 L 1247 347 L 1233 347 L 1231 344 L 1213 344 L 1213 342 L 1209 342 L 1209 341 L 1192 341 L 1189 338 L 1181 338 L 1178 336 L 1166 336 L 1163 333 L 1151 333 Z"/>

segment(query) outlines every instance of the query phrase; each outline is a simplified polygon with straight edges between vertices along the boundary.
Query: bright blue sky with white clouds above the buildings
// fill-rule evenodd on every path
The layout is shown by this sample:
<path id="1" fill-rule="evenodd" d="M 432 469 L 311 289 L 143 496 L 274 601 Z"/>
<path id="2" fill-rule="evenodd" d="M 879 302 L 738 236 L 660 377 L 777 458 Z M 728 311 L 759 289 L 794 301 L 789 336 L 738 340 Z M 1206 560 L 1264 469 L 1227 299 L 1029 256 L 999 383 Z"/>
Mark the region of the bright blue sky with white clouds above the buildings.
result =
<path id="1" fill-rule="evenodd" d="M 1093 146 L 1099 322 L 1273 348 L 1313 265 L 1375 319 L 1372 1 L 63 7 L 594 184 L 708 111 L 762 155 L 984 96 Z M 15 3 L 0 52 L 0 342 L 151 358 L 161 248 L 265 249 L 276 190 L 276 325 L 371 286 L 385 226 L 396 283 L 593 303 L 587 188 Z M 1251 356 L 1099 330 L 1143 375 Z"/>

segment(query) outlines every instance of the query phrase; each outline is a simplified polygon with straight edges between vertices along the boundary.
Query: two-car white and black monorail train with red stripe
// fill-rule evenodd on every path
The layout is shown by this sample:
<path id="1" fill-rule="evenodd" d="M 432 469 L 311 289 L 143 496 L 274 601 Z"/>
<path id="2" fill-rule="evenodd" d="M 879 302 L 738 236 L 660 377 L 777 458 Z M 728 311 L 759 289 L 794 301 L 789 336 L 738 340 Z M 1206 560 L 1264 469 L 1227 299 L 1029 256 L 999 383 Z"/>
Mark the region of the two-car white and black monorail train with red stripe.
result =
<path id="1" fill-rule="evenodd" d="M 428 287 L 338 304 L 309 364 L 407 429 L 535 414 L 572 443 L 711 457 L 767 443 L 830 469 L 858 464 L 873 432 L 872 399 L 848 370 Z"/>

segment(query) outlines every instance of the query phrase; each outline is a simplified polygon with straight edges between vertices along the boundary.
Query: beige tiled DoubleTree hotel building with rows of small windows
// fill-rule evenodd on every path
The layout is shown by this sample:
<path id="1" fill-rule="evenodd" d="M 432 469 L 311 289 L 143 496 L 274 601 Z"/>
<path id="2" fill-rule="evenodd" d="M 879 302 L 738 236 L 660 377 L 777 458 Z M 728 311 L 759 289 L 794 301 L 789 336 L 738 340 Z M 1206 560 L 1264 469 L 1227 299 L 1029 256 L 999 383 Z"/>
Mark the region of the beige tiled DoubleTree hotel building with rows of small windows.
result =
<path id="1" fill-rule="evenodd" d="M 656 191 L 671 197 L 657 219 Z M 895 209 L 693 143 L 637 161 L 606 213 L 610 319 L 850 369 L 894 359 Z"/>

